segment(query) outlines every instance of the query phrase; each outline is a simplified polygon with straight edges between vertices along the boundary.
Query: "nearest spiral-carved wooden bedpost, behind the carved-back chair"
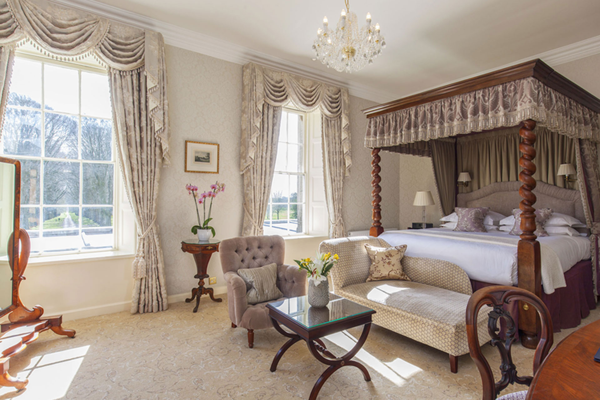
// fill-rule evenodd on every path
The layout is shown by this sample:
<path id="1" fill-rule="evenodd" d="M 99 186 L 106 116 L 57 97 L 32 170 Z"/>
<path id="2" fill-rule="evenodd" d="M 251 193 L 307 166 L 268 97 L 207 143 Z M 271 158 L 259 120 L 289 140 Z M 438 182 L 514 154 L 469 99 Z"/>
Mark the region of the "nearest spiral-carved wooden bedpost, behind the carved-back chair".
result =
<path id="1" fill-rule="evenodd" d="M 519 130 L 521 143 L 519 150 L 523 155 L 519 159 L 521 172 L 519 173 L 519 181 L 523 182 L 519 189 L 519 194 L 523 197 L 519 208 L 521 209 L 521 239 L 517 248 L 517 263 L 518 263 L 518 280 L 519 287 L 534 293 L 541 297 L 541 261 L 539 255 L 539 242 L 535 235 L 535 204 L 536 197 L 532 190 L 536 186 L 536 181 L 533 174 L 536 171 L 533 159 L 536 152 L 533 144 L 536 140 L 536 135 L 533 133 L 535 129 L 535 121 L 527 119 L 523 122 L 523 127 Z M 539 317 L 535 309 L 527 303 L 519 303 L 519 328 L 522 330 L 521 343 L 524 347 L 535 348 L 538 344 L 538 327 Z"/>

